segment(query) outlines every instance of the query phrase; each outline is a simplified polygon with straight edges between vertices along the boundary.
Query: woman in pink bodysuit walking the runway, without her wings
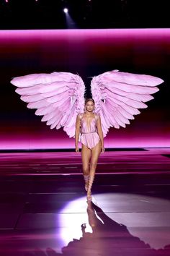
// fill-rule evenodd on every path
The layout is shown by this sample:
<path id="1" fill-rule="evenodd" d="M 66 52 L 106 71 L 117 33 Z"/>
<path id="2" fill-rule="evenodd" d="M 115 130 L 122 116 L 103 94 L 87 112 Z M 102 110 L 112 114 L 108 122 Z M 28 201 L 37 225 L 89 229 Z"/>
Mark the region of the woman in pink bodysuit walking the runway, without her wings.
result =
<path id="1" fill-rule="evenodd" d="M 82 145 L 81 158 L 87 192 L 86 198 L 87 201 L 91 201 L 91 187 L 94 182 L 97 161 L 100 153 L 104 153 L 101 119 L 98 114 L 94 114 L 94 100 L 92 98 L 86 99 L 84 113 L 78 114 L 76 118 L 76 152 L 79 152 L 79 137 Z"/>

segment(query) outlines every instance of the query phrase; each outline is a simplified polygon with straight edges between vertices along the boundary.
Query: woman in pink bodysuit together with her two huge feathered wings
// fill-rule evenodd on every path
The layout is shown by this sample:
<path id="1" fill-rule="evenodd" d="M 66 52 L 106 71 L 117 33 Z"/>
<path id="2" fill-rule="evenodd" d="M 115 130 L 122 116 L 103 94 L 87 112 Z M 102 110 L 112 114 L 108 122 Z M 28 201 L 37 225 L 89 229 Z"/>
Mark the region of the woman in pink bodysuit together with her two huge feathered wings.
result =
<path id="1" fill-rule="evenodd" d="M 22 101 L 28 103 L 27 107 L 37 108 L 35 114 L 43 116 L 41 121 L 47 121 L 51 129 L 63 127 L 69 137 L 75 137 L 76 151 L 79 150 L 81 132 L 87 200 L 91 200 L 97 159 L 101 150 L 104 152 L 103 137 L 109 127 L 119 129 L 130 124 L 129 120 L 140 114 L 138 108 L 147 108 L 146 102 L 153 99 L 151 94 L 159 90 L 156 85 L 164 80 L 148 74 L 119 72 L 117 69 L 104 72 L 92 78 L 92 99 L 86 101 L 86 88 L 78 74 L 27 74 L 15 77 L 11 82 L 18 87 L 16 92 L 21 95 Z"/>

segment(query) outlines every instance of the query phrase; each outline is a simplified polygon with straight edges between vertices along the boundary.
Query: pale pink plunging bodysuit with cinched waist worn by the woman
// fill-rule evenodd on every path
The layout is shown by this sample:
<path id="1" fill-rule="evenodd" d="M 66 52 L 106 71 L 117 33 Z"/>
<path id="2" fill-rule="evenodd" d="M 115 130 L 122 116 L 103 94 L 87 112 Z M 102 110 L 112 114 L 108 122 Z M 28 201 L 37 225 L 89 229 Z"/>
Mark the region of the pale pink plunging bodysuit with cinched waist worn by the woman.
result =
<path id="1" fill-rule="evenodd" d="M 80 142 L 87 146 L 87 148 L 94 148 L 99 142 L 99 135 L 97 133 L 97 119 L 96 114 L 94 119 L 91 120 L 90 127 L 87 126 L 84 114 L 80 114 L 81 119 L 81 137 Z"/>

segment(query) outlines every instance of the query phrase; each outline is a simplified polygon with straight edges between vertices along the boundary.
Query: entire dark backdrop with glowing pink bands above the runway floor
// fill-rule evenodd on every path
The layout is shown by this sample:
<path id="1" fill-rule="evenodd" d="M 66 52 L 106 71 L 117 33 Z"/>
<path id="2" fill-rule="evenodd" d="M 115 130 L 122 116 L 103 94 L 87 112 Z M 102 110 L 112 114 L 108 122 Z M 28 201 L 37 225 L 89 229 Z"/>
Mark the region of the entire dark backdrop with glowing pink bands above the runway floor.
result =
<path id="1" fill-rule="evenodd" d="M 165 82 L 130 125 L 109 129 L 105 147 L 168 147 L 168 17 L 166 1 L 1 1 L 0 149 L 74 147 L 63 129 L 50 130 L 27 109 L 10 84 L 12 77 L 78 72 L 89 88 L 89 77 L 112 69 L 151 74 Z"/>

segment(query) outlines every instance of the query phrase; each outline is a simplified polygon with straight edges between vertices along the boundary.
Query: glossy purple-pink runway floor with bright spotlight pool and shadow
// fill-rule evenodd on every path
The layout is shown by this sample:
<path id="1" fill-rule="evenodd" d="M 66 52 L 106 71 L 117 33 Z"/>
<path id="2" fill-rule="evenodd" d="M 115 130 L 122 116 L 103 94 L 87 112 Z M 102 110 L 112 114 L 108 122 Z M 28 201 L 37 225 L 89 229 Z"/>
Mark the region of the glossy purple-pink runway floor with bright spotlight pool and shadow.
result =
<path id="1" fill-rule="evenodd" d="M 1 153 L 0 255 L 170 255 L 169 154 L 105 152 L 87 203 L 79 153 Z"/>

